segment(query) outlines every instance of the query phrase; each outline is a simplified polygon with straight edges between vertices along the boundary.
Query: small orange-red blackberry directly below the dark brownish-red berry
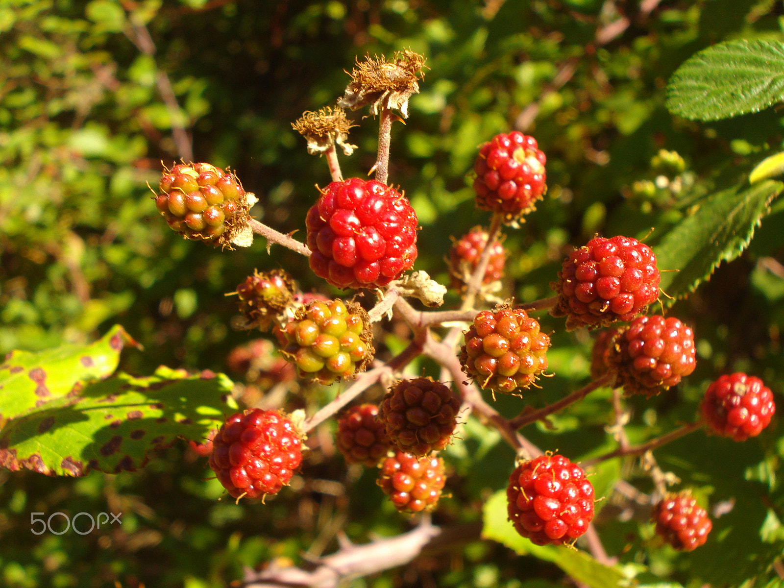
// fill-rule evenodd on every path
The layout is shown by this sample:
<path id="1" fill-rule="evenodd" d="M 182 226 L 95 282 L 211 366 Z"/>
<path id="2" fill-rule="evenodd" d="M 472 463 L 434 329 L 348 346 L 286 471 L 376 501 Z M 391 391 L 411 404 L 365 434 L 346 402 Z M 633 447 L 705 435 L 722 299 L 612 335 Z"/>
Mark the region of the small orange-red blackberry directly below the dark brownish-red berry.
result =
<path id="1" fill-rule="evenodd" d="M 376 480 L 401 513 L 433 509 L 445 483 L 443 459 L 416 457 L 401 451 L 384 459 Z"/>

